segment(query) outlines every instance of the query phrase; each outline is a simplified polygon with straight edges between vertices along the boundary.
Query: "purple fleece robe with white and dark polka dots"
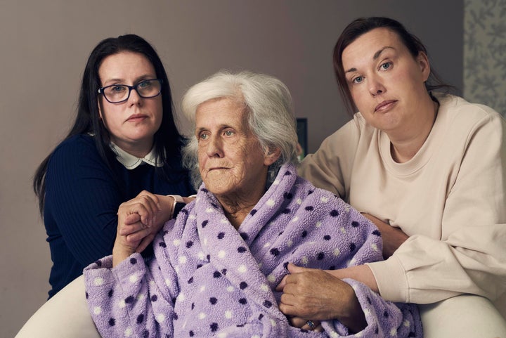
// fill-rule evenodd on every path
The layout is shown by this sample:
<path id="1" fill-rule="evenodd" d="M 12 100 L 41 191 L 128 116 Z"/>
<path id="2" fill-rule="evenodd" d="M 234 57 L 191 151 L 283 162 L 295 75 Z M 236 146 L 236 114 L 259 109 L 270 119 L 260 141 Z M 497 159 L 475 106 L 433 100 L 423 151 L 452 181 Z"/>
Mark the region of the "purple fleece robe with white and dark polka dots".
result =
<path id="1" fill-rule="evenodd" d="M 236 230 L 205 185 L 153 241 L 154 256 L 112 256 L 84 271 L 86 298 L 103 337 L 347 337 L 338 320 L 325 332 L 290 326 L 275 292 L 287 264 L 322 269 L 377 261 L 377 228 L 339 197 L 283 166 Z M 422 337 L 416 306 L 356 292 L 368 326 L 350 337 Z M 315 287 L 318 292 L 318 286 Z"/>

